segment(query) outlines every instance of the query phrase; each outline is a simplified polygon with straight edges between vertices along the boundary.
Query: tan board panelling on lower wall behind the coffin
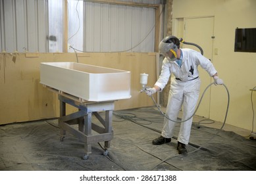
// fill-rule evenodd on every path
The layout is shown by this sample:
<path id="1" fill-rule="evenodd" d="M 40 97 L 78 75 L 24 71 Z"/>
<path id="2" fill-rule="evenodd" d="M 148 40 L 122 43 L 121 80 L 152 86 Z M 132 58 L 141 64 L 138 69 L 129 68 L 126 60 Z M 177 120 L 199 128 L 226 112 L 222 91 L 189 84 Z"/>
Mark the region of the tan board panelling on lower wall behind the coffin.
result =
<path id="1" fill-rule="evenodd" d="M 115 110 L 152 106 L 145 93 L 139 93 L 140 73 L 149 75 L 149 84 L 156 78 L 155 53 L 1 53 L 0 54 L 0 124 L 27 122 L 59 116 L 56 93 L 43 87 L 40 62 L 80 62 L 131 72 L 130 99 L 115 102 Z M 115 84 L 113 84 L 115 85 Z M 77 109 L 67 106 L 67 114 Z"/>

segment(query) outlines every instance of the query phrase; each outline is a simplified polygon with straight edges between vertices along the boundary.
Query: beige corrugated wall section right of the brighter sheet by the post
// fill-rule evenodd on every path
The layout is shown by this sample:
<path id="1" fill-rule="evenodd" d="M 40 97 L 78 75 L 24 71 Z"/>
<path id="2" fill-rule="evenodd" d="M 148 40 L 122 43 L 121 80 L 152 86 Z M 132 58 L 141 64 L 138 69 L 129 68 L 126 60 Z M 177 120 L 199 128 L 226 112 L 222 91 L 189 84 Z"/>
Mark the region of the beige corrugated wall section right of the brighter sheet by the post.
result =
<path id="1" fill-rule="evenodd" d="M 153 52 L 155 9 L 86 3 L 84 51 Z"/>

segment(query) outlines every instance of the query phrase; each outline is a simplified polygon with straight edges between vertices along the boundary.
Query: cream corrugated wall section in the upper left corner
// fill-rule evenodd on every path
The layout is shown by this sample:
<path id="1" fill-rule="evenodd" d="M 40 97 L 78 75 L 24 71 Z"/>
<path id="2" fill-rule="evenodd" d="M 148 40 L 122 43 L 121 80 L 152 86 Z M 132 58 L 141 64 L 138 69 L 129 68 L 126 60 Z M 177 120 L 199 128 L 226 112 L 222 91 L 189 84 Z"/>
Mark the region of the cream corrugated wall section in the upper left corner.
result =
<path id="1" fill-rule="evenodd" d="M 47 1 L 0 1 L 0 51 L 47 52 Z"/>

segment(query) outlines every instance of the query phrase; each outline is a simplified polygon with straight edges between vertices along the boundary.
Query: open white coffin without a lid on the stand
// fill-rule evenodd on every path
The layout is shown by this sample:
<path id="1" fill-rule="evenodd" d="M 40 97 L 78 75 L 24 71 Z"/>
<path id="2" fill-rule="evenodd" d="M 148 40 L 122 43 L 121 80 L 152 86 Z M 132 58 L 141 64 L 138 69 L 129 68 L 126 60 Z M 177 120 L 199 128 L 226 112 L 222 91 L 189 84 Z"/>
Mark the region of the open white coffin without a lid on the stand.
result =
<path id="1" fill-rule="evenodd" d="M 40 83 L 85 101 L 131 97 L 130 72 L 76 62 L 41 62 Z"/>

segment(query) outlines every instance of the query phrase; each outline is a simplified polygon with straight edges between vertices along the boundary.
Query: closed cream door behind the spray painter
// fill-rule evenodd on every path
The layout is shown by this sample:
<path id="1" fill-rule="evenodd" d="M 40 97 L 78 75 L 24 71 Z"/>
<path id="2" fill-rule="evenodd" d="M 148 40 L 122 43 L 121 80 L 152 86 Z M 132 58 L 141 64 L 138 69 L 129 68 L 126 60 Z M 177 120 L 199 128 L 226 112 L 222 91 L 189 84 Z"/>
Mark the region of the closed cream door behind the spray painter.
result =
<path id="1" fill-rule="evenodd" d="M 184 18 L 184 41 L 196 43 L 203 49 L 203 55 L 213 62 L 213 41 L 214 41 L 214 17 Z M 191 48 L 199 51 L 193 45 L 182 45 L 183 48 Z M 203 95 L 205 88 L 211 84 L 212 79 L 205 70 L 199 66 L 199 76 L 201 78 L 201 90 Z M 199 98 L 201 98 L 201 95 Z M 211 105 L 211 87 L 209 87 L 201 101 L 196 115 L 209 118 Z"/>

